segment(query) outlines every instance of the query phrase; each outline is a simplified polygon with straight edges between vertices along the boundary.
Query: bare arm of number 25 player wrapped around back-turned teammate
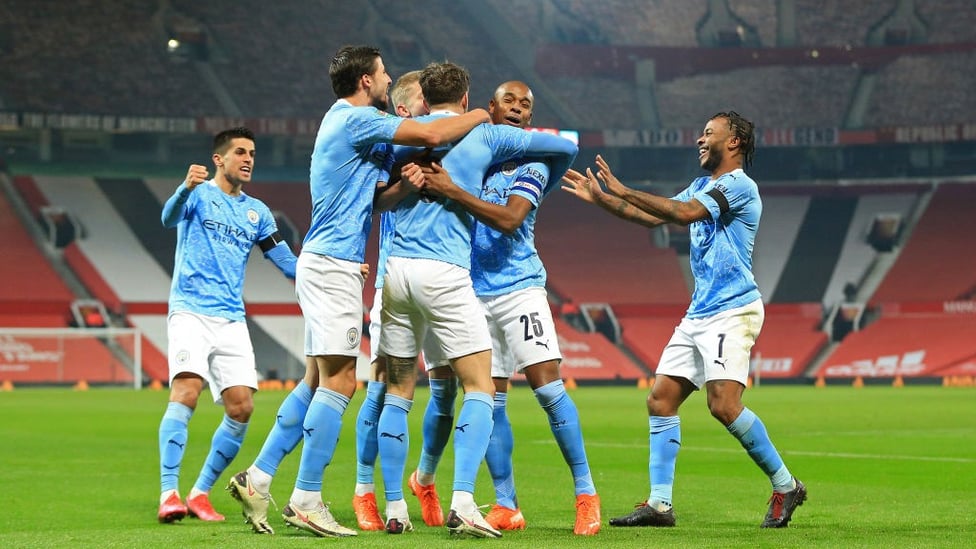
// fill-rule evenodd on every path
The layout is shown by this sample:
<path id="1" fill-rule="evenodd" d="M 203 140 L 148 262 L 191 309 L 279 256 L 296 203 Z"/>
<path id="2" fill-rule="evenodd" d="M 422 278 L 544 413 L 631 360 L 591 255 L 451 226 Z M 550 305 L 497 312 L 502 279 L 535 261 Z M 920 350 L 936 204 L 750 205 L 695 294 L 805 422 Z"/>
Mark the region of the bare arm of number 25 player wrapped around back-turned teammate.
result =
<path id="1" fill-rule="evenodd" d="M 406 169 L 406 168 L 404 168 Z M 505 205 L 492 204 L 474 196 L 454 183 L 451 175 L 440 164 L 432 163 L 424 168 L 424 191 L 450 198 L 471 213 L 478 221 L 496 231 L 515 233 L 532 211 L 532 203 L 517 195 L 509 195 Z"/>

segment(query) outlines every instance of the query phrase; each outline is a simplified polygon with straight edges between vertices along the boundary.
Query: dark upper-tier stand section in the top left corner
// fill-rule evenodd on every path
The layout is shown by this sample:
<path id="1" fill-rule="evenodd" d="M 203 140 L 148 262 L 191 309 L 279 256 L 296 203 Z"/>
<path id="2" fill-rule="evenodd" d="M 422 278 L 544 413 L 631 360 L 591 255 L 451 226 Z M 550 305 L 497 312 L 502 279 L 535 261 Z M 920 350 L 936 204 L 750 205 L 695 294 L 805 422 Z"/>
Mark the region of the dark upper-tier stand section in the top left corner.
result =
<path id="1" fill-rule="evenodd" d="M 193 68 L 167 55 L 152 20 L 155 2 L 119 0 L 110 8 L 104 2 L 17 2 L 0 9 L 8 50 L 0 64 L 0 95 L 8 109 L 177 116 L 220 112 Z"/>

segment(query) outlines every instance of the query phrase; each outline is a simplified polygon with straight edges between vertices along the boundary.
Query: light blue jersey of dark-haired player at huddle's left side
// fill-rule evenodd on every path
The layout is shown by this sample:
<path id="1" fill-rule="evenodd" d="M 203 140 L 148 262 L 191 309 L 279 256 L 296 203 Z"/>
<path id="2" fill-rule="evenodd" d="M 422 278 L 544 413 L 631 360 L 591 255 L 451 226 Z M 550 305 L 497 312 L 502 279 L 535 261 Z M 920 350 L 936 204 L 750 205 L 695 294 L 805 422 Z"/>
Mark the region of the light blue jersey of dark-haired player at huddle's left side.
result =
<path id="1" fill-rule="evenodd" d="M 312 151 L 312 221 L 303 252 L 364 261 L 376 183 L 403 120 L 344 99 L 325 114 Z"/>

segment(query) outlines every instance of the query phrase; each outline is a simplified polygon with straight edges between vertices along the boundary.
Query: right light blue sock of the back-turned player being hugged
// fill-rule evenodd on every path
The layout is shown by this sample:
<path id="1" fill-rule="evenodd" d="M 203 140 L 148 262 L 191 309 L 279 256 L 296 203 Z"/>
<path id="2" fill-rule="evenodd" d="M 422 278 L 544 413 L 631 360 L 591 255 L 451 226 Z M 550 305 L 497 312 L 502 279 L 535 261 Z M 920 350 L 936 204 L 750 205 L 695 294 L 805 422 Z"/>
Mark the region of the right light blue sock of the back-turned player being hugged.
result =
<path id="1" fill-rule="evenodd" d="M 454 490 L 474 493 L 478 467 L 491 437 L 492 398 L 488 393 L 464 395 L 454 427 Z"/>

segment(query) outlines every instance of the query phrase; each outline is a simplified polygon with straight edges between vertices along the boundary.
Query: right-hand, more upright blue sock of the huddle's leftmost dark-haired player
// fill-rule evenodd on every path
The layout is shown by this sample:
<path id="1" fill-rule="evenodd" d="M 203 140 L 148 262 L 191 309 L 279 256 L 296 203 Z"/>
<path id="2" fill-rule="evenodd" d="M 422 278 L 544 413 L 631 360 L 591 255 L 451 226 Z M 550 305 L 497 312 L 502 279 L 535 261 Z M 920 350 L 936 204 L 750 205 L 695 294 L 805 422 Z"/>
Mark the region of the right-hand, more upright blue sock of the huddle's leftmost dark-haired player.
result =
<path id="1" fill-rule="evenodd" d="M 349 399 L 343 394 L 324 387 L 315 390 L 302 425 L 305 445 L 302 446 L 295 488 L 322 491 L 322 475 L 335 454 L 342 430 L 342 414 L 348 405 Z"/>

